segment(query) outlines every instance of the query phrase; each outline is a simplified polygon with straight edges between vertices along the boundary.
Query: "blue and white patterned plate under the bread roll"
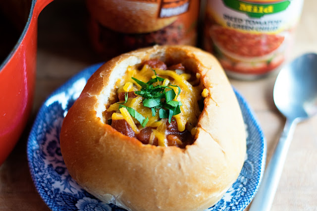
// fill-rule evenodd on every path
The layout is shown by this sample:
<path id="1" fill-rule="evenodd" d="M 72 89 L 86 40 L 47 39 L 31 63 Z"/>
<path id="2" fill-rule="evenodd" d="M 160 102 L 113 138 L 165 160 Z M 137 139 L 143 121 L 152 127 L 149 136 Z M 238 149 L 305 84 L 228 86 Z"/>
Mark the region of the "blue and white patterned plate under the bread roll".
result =
<path id="1" fill-rule="evenodd" d="M 78 73 L 47 99 L 32 127 L 27 155 L 32 179 L 44 202 L 53 211 L 123 211 L 83 190 L 69 175 L 59 148 L 64 116 L 79 97 L 87 79 L 101 64 Z M 266 146 L 252 110 L 236 92 L 247 131 L 247 155 L 238 179 L 208 211 L 243 211 L 254 197 L 264 171 Z"/>

